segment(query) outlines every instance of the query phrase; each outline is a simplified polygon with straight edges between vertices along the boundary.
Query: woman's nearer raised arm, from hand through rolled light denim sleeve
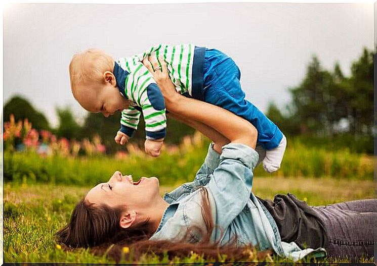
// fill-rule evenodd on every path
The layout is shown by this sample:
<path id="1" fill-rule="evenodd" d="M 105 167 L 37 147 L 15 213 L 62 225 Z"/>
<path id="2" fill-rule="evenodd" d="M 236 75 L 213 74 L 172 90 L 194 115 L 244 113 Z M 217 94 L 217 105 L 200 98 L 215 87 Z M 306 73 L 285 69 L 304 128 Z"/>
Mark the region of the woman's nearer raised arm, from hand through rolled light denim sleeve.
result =
<path id="1" fill-rule="evenodd" d="M 231 141 L 222 148 L 216 160 L 216 166 L 207 188 L 211 207 L 215 211 L 214 222 L 223 229 L 237 217 L 250 199 L 253 184 L 253 170 L 258 162 L 255 151 L 257 129 L 244 119 L 215 105 L 182 96 L 177 93 L 174 84 L 167 75 L 166 65 L 161 60 L 162 71 L 158 69 L 156 59 L 151 58 L 151 71 L 165 98 L 166 109 L 184 120 L 202 122 L 220 132 Z M 147 63 L 147 62 L 146 62 Z M 149 63 L 149 62 L 148 62 Z M 149 63 L 150 64 L 150 63 Z M 206 157 L 211 161 L 215 156 Z M 204 164 L 210 165 L 210 164 Z M 216 230 L 216 240 L 221 230 Z"/>

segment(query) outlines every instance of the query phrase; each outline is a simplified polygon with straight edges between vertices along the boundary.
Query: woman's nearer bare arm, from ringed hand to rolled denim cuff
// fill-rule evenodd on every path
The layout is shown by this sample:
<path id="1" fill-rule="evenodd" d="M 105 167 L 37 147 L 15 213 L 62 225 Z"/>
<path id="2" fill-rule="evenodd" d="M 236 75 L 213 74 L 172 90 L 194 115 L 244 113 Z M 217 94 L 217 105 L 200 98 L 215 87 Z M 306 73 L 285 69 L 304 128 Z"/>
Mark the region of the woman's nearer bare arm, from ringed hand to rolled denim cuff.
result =
<path id="1" fill-rule="evenodd" d="M 244 119 L 210 103 L 185 97 L 176 92 L 175 86 L 167 74 L 165 62 L 161 59 L 161 70 L 158 70 L 157 59 L 151 57 L 143 60 L 143 64 L 153 74 L 164 96 L 166 109 L 182 117 L 184 120 L 202 122 L 229 139 L 232 143 L 241 143 L 255 148 L 257 129 Z M 154 66 L 153 70 L 151 64 Z"/>

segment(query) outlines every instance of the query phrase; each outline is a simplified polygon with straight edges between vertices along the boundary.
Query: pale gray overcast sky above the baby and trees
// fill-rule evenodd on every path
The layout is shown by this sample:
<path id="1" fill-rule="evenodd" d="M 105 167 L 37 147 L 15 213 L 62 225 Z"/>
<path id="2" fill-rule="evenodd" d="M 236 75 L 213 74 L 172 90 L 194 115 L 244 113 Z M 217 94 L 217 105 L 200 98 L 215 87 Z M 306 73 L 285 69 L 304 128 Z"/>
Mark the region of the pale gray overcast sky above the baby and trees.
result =
<path id="1" fill-rule="evenodd" d="M 71 95 L 68 65 L 90 47 L 113 57 L 155 43 L 217 48 L 241 70 L 246 97 L 262 111 L 290 101 L 312 55 L 346 75 L 373 48 L 373 4 L 210 3 L 11 4 L 4 9 L 4 101 L 21 94 L 57 125 L 55 107 L 86 111 Z"/>

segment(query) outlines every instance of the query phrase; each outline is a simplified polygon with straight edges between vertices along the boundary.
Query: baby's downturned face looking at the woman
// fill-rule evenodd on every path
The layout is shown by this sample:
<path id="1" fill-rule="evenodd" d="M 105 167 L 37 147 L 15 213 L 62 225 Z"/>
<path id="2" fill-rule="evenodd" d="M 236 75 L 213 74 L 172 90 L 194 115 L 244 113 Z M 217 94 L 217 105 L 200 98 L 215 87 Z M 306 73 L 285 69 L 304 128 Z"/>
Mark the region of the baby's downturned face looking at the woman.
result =
<path id="1" fill-rule="evenodd" d="M 120 94 L 116 85 L 111 83 L 79 85 L 76 89 L 76 99 L 85 110 L 102 113 L 105 117 L 129 108 L 131 103 Z"/>

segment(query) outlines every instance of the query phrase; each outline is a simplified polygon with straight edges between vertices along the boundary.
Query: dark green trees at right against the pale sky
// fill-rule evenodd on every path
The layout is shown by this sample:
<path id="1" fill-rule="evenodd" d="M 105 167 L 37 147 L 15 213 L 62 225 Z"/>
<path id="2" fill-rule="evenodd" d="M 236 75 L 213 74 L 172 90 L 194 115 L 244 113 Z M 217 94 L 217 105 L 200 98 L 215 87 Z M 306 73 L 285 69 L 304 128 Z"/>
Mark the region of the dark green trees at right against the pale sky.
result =
<path id="1" fill-rule="evenodd" d="M 345 77 L 339 63 L 333 72 L 324 70 L 316 56 L 307 66 L 302 82 L 289 89 L 292 102 L 282 115 L 272 103 L 267 112 L 287 135 L 308 134 L 332 137 L 340 132 L 372 136 L 373 57 L 364 48 Z M 341 124 L 347 128 L 340 128 Z"/>

